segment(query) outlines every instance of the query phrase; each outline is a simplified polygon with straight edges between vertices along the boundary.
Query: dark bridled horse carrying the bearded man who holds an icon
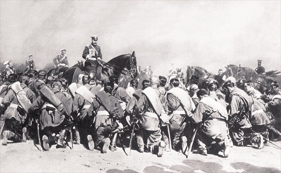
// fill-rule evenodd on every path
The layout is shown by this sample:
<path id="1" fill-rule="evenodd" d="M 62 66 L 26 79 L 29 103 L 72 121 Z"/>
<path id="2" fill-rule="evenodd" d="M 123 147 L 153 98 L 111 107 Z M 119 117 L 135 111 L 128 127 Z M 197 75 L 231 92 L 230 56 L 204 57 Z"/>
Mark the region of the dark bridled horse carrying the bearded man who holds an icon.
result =
<path id="1" fill-rule="evenodd" d="M 70 84 L 76 82 L 79 74 L 85 74 L 84 67 L 70 67 L 62 74 L 62 77 L 66 78 Z M 135 51 L 132 54 L 125 54 L 112 58 L 108 62 L 101 61 L 96 76 L 108 82 L 111 75 L 120 77 L 121 74 L 130 78 L 137 77 Z"/>

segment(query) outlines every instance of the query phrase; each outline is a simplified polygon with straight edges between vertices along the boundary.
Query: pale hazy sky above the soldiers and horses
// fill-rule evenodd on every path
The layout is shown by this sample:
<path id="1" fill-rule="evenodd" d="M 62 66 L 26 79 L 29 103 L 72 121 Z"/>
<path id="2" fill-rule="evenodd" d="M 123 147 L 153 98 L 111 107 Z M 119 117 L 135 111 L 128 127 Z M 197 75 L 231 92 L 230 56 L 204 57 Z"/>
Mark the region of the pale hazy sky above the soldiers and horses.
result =
<path id="1" fill-rule="evenodd" d="M 70 66 L 99 34 L 103 60 L 136 52 L 167 75 L 170 63 L 217 73 L 227 64 L 281 69 L 281 1 L 0 1 L 0 58 L 44 67 L 67 49 Z M 1 64 L 2 66 L 2 64 Z"/>

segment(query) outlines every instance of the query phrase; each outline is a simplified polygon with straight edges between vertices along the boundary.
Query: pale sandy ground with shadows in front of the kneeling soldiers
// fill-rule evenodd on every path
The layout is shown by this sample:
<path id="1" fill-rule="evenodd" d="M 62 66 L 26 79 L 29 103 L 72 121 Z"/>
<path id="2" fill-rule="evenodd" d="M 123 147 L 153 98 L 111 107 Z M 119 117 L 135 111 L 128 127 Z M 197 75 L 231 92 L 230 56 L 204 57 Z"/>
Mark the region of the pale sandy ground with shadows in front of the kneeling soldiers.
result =
<path id="1" fill-rule="evenodd" d="M 280 146 L 280 142 L 274 142 Z M 176 151 L 162 157 L 132 150 L 126 156 L 122 148 L 102 154 L 82 145 L 41 152 L 33 141 L 0 146 L 0 172 L 280 172 L 281 150 L 266 144 L 231 148 L 228 158 L 191 154 L 189 159 Z"/>

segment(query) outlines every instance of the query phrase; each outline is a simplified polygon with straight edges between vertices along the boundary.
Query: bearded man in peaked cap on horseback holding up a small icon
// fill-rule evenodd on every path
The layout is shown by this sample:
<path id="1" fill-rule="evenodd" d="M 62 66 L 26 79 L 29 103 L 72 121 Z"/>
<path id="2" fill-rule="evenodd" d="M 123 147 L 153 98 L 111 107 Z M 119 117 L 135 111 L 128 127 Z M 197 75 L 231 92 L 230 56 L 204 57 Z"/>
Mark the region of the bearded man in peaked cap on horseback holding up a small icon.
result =
<path id="1" fill-rule="evenodd" d="M 96 73 L 99 64 L 98 60 L 102 59 L 102 55 L 101 55 L 101 48 L 96 44 L 98 40 L 98 35 L 93 35 L 91 36 L 91 38 L 92 38 L 92 42 L 91 44 L 85 47 L 82 58 L 86 59 L 85 66 L 84 66 L 85 72 Z"/>

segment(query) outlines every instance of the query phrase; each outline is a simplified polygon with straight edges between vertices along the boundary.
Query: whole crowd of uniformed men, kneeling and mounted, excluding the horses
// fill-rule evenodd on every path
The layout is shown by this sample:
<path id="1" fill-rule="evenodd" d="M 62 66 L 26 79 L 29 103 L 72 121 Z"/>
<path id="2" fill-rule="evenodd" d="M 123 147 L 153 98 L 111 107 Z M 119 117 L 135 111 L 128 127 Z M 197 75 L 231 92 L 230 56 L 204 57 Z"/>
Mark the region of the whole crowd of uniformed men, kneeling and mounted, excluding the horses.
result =
<path id="1" fill-rule="evenodd" d="M 54 145 L 66 148 L 71 136 L 74 144 L 91 151 L 106 153 L 121 146 L 160 157 L 171 149 L 186 154 L 194 142 L 199 154 L 228 157 L 233 145 L 261 149 L 264 143 L 280 140 L 277 82 L 260 93 L 251 81 L 236 86 L 235 78 L 225 79 L 222 70 L 215 80 L 199 84 L 200 78 L 193 75 L 186 82 L 181 69 L 172 64 L 168 79 L 154 76 L 149 66 L 145 72 L 139 66 L 138 73 L 145 73 L 149 80 L 132 79 L 122 88 L 116 75 L 109 82 L 91 75 L 102 58 L 98 37 L 91 38 L 82 55 L 89 75 L 78 75 L 75 83 L 33 70 L 32 55 L 25 73 L 4 63 L 7 67 L 0 75 L 2 145 L 7 140 L 37 140 L 49 151 Z M 57 72 L 68 66 L 66 50 L 61 51 L 53 60 Z"/>

